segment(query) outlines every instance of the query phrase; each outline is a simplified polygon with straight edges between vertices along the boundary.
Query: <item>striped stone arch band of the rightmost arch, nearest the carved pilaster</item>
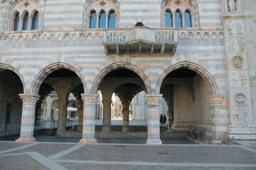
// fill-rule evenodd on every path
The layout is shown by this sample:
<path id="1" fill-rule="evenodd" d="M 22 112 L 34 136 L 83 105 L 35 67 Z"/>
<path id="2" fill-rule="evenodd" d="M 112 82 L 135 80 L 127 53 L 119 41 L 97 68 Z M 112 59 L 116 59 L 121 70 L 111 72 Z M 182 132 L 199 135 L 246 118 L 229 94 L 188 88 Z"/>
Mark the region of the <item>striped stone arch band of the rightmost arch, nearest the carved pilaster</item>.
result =
<path id="1" fill-rule="evenodd" d="M 163 74 L 161 74 L 161 77 L 156 84 L 156 94 L 160 93 L 161 84 L 163 83 L 164 78 L 174 70 L 182 68 L 191 69 L 193 72 L 199 74 L 206 81 L 206 84 L 208 84 L 210 94 L 218 94 L 218 86 L 213 77 L 211 76 L 211 74 L 206 69 L 193 62 L 178 62 L 169 67 L 168 69 L 166 69 L 166 71 Z"/>

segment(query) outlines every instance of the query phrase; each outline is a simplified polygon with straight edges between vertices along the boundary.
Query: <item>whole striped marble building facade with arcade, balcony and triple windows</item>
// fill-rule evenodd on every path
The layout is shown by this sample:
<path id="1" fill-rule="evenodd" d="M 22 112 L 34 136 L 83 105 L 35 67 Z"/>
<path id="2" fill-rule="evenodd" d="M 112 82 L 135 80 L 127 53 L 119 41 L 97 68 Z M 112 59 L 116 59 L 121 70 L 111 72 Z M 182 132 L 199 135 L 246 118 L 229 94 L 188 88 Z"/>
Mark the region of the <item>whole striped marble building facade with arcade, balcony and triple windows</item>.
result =
<path id="1" fill-rule="evenodd" d="M 41 104 L 56 91 L 58 135 L 74 135 L 65 130 L 72 93 L 82 127 L 75 135 L 97 142 L 97 91 L 106 134 L 112 94 L 122 101 L 125 134 L 129 103 L 145 91 L 148 144 L 161 144 L 162 98 L 170 133 L 212 142 L 256 139 L 255 6 L 254 0 L 1 0 L 1 130 L 19 122 L 18 141 L 35 140 Z"/>

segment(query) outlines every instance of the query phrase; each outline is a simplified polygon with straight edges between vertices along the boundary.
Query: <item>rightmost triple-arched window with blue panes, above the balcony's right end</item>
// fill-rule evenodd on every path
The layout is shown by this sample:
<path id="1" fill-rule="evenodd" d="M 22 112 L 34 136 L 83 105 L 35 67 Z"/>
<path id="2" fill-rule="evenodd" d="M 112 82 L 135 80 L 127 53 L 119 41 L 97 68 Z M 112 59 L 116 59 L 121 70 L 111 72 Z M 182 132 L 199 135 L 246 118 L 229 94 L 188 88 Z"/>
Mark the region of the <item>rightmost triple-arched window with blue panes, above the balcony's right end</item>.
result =
<path id="1" fill-rule="evenodd" d="M 164 0 L 161 4 L 161 26 L 188 28 L 199 26 L 198 6 L 195 0 Z"/>

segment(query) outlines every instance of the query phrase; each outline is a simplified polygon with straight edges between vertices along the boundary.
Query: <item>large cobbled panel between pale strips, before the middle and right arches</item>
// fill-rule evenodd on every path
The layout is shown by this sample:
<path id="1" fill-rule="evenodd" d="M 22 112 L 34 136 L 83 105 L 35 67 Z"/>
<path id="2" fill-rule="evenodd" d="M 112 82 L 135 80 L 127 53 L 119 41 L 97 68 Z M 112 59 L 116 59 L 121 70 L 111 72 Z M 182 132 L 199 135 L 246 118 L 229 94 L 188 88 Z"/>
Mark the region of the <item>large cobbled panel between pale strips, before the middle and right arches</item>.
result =
<path id="1" fill-rule="evenodd" d="M 232 159 L 230 159 L 231 155 Z M 85 145 L 60 159 L 255 164 L 256 154 L 236 146 Z"/>

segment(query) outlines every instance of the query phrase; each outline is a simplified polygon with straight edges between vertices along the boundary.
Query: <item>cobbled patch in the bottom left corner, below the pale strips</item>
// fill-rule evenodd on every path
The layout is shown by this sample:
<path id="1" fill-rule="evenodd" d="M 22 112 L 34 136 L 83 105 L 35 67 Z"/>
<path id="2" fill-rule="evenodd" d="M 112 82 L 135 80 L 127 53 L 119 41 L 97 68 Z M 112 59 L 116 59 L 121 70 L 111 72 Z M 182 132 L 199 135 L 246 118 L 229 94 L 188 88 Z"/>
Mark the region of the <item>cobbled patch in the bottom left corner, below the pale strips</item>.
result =
<path id="1" fill-rule="evenodd" d="M 27 154 L 14 155 L 8 157 L 0 157 L 0 169 L 1 170 L 14 170 L 14 169 L 33 169 L 33 170 L 47 170 L 46 166 L 43 166 L 35 159 Z"/>

